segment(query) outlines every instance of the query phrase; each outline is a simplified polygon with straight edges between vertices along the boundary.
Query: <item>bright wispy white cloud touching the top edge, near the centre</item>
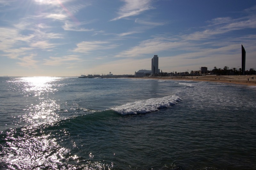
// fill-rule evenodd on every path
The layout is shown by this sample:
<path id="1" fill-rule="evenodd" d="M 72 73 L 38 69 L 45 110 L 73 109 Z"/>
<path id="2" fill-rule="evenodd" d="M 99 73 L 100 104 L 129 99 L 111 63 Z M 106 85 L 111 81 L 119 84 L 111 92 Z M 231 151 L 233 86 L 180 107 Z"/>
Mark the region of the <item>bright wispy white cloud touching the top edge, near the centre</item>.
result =
<path id="1" fill-rule="evenodd" d="M 118 17 L 111 19 L 111 21 L 127 18 L 130 16 L 136 16 L 140 13 L 154 9 L 151 6 L 152 0 L 123 0 L 124 6 L 122 6 L 118 13 Z"/>

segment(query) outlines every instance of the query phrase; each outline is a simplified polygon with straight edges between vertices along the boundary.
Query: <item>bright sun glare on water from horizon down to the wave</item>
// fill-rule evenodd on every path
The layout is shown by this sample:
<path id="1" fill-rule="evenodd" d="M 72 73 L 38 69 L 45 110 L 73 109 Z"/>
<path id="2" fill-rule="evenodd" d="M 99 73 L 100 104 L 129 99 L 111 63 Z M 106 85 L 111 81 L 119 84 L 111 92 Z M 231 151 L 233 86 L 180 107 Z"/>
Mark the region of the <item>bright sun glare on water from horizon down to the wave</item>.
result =
<path id="1" fill-rule="evenodd" d="M 30 101 L 24 111 L 26 112 L 22 117 L 29 123 L 36 123 L 38 121 L 52 121 L 58 118 L 58 114 L 54 112 L 59 108 L 59 104 L 49 98 L 50 94 L 54 94 L 57 90 L 55 87 L 59 77 L 22 77 L 20 83 L 24 88 L 24 97 L 34 96 L 35 100 Z"/>

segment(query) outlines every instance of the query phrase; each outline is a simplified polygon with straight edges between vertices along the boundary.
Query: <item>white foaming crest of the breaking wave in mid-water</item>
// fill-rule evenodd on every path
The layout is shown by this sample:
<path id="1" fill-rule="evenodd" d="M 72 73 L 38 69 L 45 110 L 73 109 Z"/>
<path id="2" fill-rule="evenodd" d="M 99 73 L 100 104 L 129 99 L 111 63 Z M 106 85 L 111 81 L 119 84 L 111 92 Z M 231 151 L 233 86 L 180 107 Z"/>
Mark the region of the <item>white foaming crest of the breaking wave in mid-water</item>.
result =
<path id="1" fill-rule="evenodd" d="M 170 107 L 177 104 L 180 101 L 180 97 L 177 95 L 170 95 L 160 98 L 150 98 L 148 100 L 140 100 L 132 103 L 127 103 L 122 106 L 111 108 L 115 112 L 121 115 L 148 113 L 157 111 L 160 108 Z"/>

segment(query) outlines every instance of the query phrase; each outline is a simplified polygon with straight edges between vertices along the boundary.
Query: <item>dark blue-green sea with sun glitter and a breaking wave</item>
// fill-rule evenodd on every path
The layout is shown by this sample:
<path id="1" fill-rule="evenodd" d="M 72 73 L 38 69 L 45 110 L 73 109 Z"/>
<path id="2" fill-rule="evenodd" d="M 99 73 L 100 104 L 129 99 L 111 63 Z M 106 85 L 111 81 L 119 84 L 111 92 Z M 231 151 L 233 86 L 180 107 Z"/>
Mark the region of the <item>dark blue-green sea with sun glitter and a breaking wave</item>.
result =
<path id="1" fill-rule="evenodd" d="M 256 86 L 0 77 L 1 169 L 255 169 Z"/>

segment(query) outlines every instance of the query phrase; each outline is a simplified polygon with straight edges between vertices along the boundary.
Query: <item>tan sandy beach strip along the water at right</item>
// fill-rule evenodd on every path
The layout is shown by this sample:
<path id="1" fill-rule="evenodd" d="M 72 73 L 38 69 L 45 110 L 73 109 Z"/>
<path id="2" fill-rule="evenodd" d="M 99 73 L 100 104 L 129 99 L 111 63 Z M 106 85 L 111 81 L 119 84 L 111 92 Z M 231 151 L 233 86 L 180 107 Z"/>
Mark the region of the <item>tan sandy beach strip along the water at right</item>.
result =
<path id="1" fill-rule="evenodd" d="M 253 77 L 253 79 L 252 79 Z M 220 82 L 227 84 L 241 84 L 247 86 L 256 86 L 256 76 L 254 75 L 206 75 L 206 76 L 174 76 L 174 77 L 143 77 L 148 79 L 161 79 L 161 80 L 189 80 L 189 81 L 211 81 L 211 82 Z M 249 79 L 249 81 L 248 81 Z"/>

